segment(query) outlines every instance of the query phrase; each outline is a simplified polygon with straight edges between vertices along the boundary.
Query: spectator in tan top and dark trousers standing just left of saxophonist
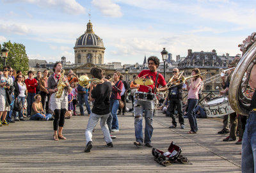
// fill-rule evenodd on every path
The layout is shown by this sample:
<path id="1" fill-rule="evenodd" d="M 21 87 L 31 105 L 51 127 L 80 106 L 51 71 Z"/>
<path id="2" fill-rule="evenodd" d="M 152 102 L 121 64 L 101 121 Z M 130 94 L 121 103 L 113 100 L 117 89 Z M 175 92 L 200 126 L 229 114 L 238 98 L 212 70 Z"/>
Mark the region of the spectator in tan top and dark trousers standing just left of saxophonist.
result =
<path id="1" fill-rule="evenodd" d="M 45 109 L 46 114 L 49 114 L 49 100 L 50 93 L 47 90 L 48 70 L 44 70 L 44 76 L 39 80 L 40 95 L 42 98 L 42 107 Z"/>

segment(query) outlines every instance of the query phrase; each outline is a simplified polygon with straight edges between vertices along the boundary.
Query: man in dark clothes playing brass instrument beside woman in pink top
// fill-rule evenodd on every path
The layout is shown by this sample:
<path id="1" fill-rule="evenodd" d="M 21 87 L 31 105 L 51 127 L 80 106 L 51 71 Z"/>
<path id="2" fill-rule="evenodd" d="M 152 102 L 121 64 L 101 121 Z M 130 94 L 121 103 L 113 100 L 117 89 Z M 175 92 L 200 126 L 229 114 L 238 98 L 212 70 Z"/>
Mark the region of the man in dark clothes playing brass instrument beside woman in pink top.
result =
<path id="1" fill-rule="evenodd" d="M 178 111 L 179 115 L 179 123 L 180 123 L 180 128 L 184 129 L 184 116 L 182 112 L 182 86 L 183 83 L 180 81 L 179 77 L 179 69 L 178 68 L 173 68 L 173 77 L 171 85 L 169 87 L 169 93 L 168 93 L 168 98 L 169 98 L 169 106 L 168 106 L 168 111 L 170 112 L 170 116 L 172 117 L 172 126 L 169 128 L 176 128 L 177 127 L 177 122 L 175 120 L 175 107 Z M 173 86 L 173 87 L 172 87 Z"/>

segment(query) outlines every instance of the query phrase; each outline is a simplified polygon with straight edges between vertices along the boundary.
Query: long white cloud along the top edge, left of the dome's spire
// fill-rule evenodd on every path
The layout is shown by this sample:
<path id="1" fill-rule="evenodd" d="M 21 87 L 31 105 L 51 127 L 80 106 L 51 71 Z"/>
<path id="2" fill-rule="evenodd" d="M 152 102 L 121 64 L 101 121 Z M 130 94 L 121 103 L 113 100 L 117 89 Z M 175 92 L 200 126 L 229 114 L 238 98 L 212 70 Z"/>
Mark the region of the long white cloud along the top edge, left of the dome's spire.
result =
<path id="1" fill-rule="evenodd" d="M 31 3 L 41 8 L 55 8 L 70 15 L 85 13 L 85 8 L 76 0 L 3 0 L 4 3 Z"/>

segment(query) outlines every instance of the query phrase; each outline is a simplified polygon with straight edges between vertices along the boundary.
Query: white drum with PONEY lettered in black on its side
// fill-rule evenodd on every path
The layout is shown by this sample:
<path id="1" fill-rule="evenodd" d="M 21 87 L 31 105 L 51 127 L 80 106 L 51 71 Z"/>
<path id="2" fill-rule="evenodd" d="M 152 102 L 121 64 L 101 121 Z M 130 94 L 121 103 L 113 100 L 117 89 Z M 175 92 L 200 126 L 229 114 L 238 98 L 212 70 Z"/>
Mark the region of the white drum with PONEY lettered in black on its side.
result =
<path id="1" fill-rule="evenodd" d="M 228 102 L 227 97 L 219 97 L 209 100 L 205 105 L 207 117 L 220 117 L 235 112 Z"/>

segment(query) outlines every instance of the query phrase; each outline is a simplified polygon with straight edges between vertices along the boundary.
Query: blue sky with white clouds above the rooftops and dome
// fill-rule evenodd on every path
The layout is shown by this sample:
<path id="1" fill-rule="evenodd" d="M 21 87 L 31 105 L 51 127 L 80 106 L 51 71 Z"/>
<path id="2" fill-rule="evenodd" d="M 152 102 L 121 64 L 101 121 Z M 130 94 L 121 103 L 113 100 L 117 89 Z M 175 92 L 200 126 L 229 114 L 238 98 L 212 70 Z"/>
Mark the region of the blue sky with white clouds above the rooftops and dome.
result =
<path id="1" fill-rule="evenodd" d="M 89 13 L 104 63 L 161 59 L 163 47 L 173 59 L 188 49 L 236 56 L 256 29 L 255 0 L 0 0 L 0 43 L 22 43 L 29 59 L 74 63 Z"/>

